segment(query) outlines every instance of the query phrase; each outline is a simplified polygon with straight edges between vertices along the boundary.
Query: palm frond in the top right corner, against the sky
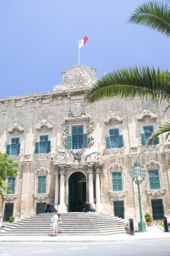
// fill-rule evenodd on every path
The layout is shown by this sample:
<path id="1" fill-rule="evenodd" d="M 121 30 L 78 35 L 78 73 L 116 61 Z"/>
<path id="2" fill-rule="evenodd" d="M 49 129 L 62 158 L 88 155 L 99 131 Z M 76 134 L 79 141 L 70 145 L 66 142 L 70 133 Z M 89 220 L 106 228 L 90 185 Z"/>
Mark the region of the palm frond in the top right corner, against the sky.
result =
<path id="1" fill-rule="evenodd" d="M 141 24 L 170 36 L 170 7 L 164 3 L 148 2 L 135 9 L 129 23 Z"/>

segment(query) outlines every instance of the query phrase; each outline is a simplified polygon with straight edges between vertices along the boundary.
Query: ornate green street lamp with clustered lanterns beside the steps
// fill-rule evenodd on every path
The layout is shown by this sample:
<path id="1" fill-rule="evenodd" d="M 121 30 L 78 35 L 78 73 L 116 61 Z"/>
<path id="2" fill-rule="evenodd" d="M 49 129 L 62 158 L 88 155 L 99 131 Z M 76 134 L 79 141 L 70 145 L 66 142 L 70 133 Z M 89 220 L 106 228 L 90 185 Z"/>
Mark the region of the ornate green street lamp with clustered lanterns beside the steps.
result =
<path id="1" fill-rule="evenodd" d="M 134 166 L 130 171 L 130 176 L 132 177 L 133 182 L 137 184 L 138 189 L 138 199 L 140 205 L 140 223 L 138 223 L 139 232 L 146 231 L 146 223 L 142 219 L 142 204 L 141 204 L 141 196 L 140 196 L 140 184 L 145 180 L 146 170 L 145 167 L 141 166 L 139 162 L 135 162 Z"/>

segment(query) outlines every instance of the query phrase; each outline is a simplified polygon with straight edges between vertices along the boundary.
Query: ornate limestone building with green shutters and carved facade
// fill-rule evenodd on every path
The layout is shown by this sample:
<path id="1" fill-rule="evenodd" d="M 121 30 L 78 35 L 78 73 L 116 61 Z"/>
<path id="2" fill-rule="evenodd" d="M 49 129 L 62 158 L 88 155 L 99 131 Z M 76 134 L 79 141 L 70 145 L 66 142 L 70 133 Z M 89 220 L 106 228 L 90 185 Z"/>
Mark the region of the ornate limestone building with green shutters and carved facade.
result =
<path id="1" fill-rule="evenodd" d="M 135 160 L 146 169 L 142 210 L 157 220 L 170 216 L 169 148 L 159 136 L 147 138 L 169 118 L 166 103 L 106 99 L 86 104 L 86 89 L 96 69 L 74 66 L 62 83 L 42 94 L 0 99 L 0 151 L 19 163 L 8 177 L 0 214 L 16 220 L 44 212 L 45 202 L 59 212 L 96 211 L 140 219 L 137 185 L 130 170 Z"/>

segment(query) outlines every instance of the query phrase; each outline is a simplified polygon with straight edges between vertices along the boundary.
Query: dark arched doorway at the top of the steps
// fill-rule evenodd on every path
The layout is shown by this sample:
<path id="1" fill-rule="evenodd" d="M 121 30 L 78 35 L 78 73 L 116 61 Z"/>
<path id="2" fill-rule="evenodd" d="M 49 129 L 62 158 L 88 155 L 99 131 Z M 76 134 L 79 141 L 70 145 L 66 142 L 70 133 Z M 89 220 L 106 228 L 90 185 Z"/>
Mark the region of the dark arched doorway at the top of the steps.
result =
<path id="1" fill-rule="evenodd" d="M 74 172 L 69 177 L 69 212 L 83 211 L 86 201 L 86 176 L 82 172 Z"/>

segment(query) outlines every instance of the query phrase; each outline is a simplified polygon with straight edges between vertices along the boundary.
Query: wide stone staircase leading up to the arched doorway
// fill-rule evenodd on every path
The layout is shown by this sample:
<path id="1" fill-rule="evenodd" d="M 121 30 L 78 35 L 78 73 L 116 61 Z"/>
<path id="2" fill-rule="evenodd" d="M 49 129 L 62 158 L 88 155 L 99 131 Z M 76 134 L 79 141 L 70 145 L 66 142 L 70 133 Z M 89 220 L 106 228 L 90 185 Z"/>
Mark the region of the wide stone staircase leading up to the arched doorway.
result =
<path id="1" fill-rule="evenodd" d="M 62 213 L 60 235 L 111 235 L 125 233 L 125 220 L 104 213 Z M 50 213 L 42 213 L 1 227 L 1 235 L 48 235 Z"/>

